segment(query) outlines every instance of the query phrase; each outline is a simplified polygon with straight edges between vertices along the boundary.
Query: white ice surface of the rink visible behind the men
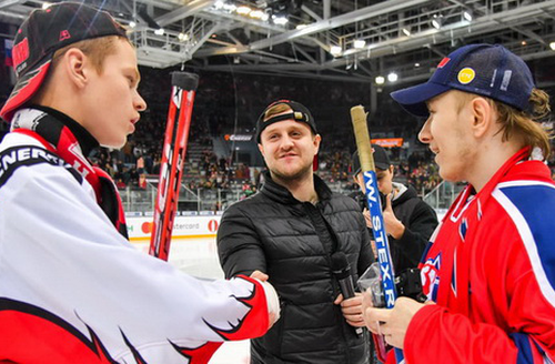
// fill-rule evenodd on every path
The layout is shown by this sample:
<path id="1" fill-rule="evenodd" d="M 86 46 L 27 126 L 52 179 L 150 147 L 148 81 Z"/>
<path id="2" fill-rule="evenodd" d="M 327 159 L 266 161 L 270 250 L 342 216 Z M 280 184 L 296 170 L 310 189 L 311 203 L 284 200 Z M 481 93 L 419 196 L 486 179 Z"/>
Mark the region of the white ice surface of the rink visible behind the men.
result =
<path id="1" fill-rule="evenodd" d="M 148 253 L 149 242 L 133 241 L 133 245 Z M 202 279 L 223 279 L 218 261 L 214 237 L 173 239 L 170 246 L 170 263 L 181 271 Z M 248 364 L 249 341 L 224 343 L 212 356 L 210 364 Z"/>

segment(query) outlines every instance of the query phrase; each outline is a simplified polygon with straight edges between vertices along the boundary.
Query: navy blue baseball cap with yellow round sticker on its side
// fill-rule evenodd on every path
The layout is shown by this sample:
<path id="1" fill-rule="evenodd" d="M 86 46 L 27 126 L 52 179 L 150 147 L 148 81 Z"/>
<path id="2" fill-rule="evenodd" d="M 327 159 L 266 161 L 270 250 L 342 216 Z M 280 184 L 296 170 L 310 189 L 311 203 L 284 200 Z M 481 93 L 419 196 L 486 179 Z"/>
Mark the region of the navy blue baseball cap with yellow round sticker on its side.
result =
<path id="1" fill-rule="evenodd" d="M 480 94 L 527 111 L 534 87 L 526 63 L 503 46 L 470 44 L 445 57 L 427 82 L 394 91 L 391 97 L 416 117 L 427 117 L 426 101 L 450 90 Z"/>

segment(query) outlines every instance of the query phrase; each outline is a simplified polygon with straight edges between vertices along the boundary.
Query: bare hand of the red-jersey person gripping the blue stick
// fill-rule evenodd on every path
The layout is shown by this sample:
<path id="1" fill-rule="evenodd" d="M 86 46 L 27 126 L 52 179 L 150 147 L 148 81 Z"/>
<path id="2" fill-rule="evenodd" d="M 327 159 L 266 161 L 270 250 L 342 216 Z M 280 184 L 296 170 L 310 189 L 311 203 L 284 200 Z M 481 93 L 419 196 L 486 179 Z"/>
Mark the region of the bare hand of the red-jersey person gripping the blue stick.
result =
<path id="1" fill-rule="evenodd" d="M 374 334 L 384 335 L 387 344 L 403 348 L 406 330 L 413 316 L 424 304 L 412 299 L 398 297 L 393 309 L 374 309 L 364 300 L 364 322 Z M 427 304 L 427 303 L 426 303 Z"/>

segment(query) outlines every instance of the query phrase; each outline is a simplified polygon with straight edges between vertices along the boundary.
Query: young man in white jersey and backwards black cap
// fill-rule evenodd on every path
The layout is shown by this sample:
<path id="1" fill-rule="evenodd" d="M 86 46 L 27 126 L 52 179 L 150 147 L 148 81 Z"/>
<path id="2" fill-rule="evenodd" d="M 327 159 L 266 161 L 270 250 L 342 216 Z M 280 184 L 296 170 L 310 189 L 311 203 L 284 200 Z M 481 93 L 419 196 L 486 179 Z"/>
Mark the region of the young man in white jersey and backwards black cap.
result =
<path id="1" fill-rule="evenodd" d="M 268 283 L 204 282 L 135 250 L 112 181 L 87 160 L 121 148 L 147 108 L 135 50 L 107 12 L 36 10 L 0 111 L 0 362 L 206 363 L 279 316 Z M 256 276 L 263 277 L 261 274 Z"/>

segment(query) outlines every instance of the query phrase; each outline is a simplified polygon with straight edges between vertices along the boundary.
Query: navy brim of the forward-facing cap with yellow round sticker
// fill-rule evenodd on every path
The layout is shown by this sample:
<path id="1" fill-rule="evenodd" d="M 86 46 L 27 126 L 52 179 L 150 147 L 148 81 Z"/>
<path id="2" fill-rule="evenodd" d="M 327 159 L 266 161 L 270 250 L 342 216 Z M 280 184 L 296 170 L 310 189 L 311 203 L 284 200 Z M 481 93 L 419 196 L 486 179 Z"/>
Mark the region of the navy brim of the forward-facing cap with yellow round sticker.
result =
<path id="1" fill-rule="evenodd" d="M 451 89 L 451 87 L 443 84 L 426 82 L 394 91 L 391 93 L 391 97 L 413 115 L 427 117 L 430 112 L 427 111 L 426 101 Z"/>

